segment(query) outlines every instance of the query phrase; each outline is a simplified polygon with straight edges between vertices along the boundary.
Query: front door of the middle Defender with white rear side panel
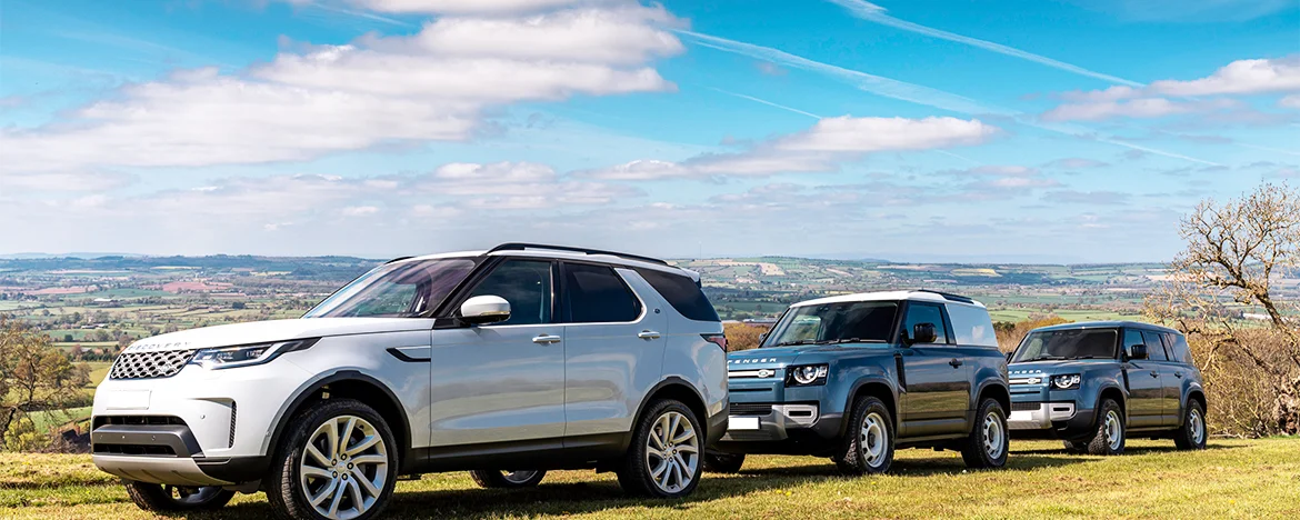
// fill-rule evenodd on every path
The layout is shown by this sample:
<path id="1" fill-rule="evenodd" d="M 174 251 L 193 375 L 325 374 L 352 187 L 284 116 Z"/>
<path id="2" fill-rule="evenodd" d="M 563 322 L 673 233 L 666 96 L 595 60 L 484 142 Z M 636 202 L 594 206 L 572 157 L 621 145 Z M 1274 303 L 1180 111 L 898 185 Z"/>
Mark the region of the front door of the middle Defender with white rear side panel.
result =
<path id="1" fill-rule="evenodd" d="M 942 306 L 907 303 L 904 330 L 907 338 L 918 324 L 932 324 L 933 343 L 911 343 L 900 348 L 904 364 L 904 413 L 900 437 L 926 437 L 966 430 L 966 408 L 970 403 L 970 367 L 949 342 L 952 334 L 944 320 Z"/>

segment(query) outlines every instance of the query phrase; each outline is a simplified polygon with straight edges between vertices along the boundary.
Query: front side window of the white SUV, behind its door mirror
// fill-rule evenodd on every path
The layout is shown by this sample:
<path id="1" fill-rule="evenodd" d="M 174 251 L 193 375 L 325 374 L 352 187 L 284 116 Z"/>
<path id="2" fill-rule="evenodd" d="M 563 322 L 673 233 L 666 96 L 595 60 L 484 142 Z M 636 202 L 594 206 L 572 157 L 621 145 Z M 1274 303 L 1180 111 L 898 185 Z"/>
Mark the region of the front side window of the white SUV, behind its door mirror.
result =
<path id="1" fill-rule="evenodd" d="M 497 325 L 537 325 L 551 322 L 551 263 L 506 260 L 498 265 L 471 296 L 500 296 L 510 302 L 510 320 Z"/>

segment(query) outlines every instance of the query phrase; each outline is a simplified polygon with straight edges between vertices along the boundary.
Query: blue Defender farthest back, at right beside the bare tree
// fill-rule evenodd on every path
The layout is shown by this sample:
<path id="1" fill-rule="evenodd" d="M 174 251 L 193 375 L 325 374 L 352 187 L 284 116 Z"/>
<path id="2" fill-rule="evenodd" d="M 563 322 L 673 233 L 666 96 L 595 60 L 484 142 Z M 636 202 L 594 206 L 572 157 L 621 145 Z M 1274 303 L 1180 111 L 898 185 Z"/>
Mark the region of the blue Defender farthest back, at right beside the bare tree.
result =
<path id="1" fill-rule="evenodd" d="M 1128 436 L 1205 447 L 1205 390 L 1174 329 L 1097 321 L 1031 330 L 1011 355 L 1011 432 L 1117 455 Z"/>

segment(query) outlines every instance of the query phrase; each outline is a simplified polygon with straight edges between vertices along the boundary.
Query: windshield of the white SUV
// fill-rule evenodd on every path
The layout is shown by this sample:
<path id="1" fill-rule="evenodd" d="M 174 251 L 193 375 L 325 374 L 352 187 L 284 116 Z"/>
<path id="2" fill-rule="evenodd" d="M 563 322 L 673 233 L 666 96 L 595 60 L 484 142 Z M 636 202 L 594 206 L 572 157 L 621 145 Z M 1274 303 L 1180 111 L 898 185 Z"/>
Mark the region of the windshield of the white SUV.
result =
<path id="1" fill-rule="evenodd" d="M 474 269 L 471 259 L 380 265 L 303 317 L 411 317 L 430 312 Z"/>

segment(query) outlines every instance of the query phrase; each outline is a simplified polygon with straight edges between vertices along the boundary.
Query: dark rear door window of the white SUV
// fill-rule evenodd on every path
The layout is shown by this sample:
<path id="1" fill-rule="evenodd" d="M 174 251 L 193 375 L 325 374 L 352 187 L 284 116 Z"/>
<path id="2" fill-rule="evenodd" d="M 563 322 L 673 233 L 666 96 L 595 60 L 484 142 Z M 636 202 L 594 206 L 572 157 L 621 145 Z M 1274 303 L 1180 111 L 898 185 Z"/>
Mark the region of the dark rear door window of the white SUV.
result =
<path id="1" fill-rule="evenodd" d="M 641 302 L 604 265 L 564 264 L 564 294 L 568 322 L 623 322 L 641 316 Z"/>

